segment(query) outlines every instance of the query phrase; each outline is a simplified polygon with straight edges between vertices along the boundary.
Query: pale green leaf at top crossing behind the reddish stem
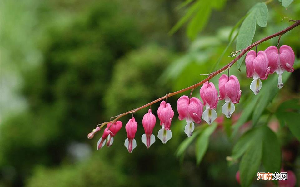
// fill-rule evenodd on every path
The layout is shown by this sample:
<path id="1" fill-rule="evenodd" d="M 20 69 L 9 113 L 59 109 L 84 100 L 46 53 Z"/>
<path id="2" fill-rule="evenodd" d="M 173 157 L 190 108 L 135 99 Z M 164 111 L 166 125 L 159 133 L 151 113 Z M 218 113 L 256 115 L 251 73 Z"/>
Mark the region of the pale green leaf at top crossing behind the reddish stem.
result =
<path id="1" fill-rule="evenodd" d="M 237 45 L 236 50 L 241 50 L 248 47 L 253 40 L 256 29 L 256 16 L 255 12 L 252 11 L 248 14 L 245 20 L 242 22 L 242 25 L 237 36 Z M 245 58 L 244 54 L 239 60 L 237 60 L 237 68 L 241 70 L 242 62 Z"/>

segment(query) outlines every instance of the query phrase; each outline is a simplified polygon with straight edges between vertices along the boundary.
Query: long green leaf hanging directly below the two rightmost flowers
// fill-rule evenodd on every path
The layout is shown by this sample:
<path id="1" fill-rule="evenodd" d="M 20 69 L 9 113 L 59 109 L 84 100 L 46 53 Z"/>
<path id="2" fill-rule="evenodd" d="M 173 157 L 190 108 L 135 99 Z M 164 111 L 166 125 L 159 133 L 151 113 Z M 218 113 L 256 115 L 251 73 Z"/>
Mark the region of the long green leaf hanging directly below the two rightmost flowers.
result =
<path id="1" fill-rule="evenodd" d="M 282 74 L 282 82 L 283 84 L 287 81 L 287 79 L 290 77 L 291 73 L 284 73 Z M 255 125 L 259 119 L 259 117 L 262 115 L 262 112 L 265 110 L 267 105 L 273 100 L 273 98 L 278 93 L 279 89 L 277 87 L 277 76 L 273 76 L 272 79 L 268 79 L 266 83 L 262 84 L 262 89 L 260 93 L 258 94 L 259 100 L 257 102 L 257 105 L 253 111 L 252 115 L 252 124 Z"/>

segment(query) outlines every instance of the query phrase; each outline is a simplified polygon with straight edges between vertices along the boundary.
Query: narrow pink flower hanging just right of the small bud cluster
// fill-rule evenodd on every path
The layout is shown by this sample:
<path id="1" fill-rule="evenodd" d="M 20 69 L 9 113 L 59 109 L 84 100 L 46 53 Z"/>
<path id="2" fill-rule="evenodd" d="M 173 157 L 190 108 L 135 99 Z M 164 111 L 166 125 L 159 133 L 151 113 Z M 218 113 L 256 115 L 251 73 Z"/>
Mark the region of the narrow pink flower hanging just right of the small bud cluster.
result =
<path id="1" fill-rule="evenodd" d="M 127 138 L 125 140 L 124 146 L 128 149 L 129 153 L 132 153 L 133 149 L 137 147 L 137 141 L 135 141 L 135 133 L 138 130 L 138 123 L 135 121 L 134 117 L 129 119 L 125 126 L 127 132 Z"/>

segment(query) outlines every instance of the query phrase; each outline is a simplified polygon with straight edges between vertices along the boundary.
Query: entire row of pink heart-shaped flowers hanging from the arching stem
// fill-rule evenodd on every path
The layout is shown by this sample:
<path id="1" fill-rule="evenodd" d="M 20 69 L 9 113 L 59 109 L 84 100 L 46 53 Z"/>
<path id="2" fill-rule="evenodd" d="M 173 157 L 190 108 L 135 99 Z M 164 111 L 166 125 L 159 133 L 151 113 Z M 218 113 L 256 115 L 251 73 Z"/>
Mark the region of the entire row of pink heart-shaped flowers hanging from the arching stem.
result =
<path id="1" fill-rule="evenodd" d="M 284 70 L 288 72 L 294 70 L 292 67 L 294 60 L 295 55 L 292 48 L 285 45 L 280 47 L 279 53 L 275 46 L 270 46 L 265 51 L 259 51 L 257 54 L 254 50 L 249 51 L 245 60 L 247 77 L 253 77 L 254 79 L 250 85 L 250 89 L 257 95 L 262 87 L 260 79 L 267 79 L 268 74 L 274 72 L 279 74 L 278 87 L 282 88 L 282 73 Z M 217 108 L 219 100 L 225 100 L 225 104 L 222 106 L 222 113 L 227 118 L 231 117 L 235 110 L 234 104 L 239 103 L 242 94 L 237 77 L 234 75 L 228 77 L 226 74 L 223 74 L 219 79 L 219 91 L 220 95 L 218 95 L 218 91 L 212 82 L 205 82 L 200 89 L 200 97 L 202 98 L 203 104 L 200 99 L 196 97 L 190 98 L 184 95 L 178 99 L 178 118 L 179 120 L 185 119 L 187 122 L 184 129 L 187 137 L 192 136 L 195 128 L 194 122 L 200 124 L 201 117 L 208 124 L 211 124 L 217 118 L 215 109 Z M 205 106 L 204 112 L 203 106 Z M 157 114 L 160 125 L 162 126 L 158 131 L 157 137 L 165 144 L 172 138 L 170 127 L 174 117 L 174 111 L 170 103 L 162 101 L 158 107 Z M 155 142 L 153 128 L 156 124 L 156 117 L 151 109 L 144 115 L 142 123 L 145 130 L 145 134 L 142 136 L 142 142 L 149 148 Z M 113 144 L 113 137 L 121 128 L 121 121 L 108 123 L 102 137 L 98 141 L 97 149 L 101 149 L 105 143 L 107 146 L 111 146 Z M 138 129 L 138 123 L 135 121 L 134 117 L 129 119 L 125 129 L 127 132 L 127 139 L 125 140 L 124 145 L 128 149 L 128 152 L 131 153 L 137 146 L 134 137 Z M 98 131 L 100 131 L 99 127 L 89 133 L 88 138 L 93 138 L 94 134 Z"/>

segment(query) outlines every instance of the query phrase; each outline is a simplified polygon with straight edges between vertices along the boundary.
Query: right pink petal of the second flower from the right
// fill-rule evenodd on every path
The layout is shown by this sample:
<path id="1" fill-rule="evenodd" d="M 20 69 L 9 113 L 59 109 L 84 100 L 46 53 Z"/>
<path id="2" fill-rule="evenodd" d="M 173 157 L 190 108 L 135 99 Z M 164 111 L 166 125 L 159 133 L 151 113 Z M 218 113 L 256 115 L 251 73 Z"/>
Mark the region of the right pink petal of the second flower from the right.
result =
<path id="1" fill-rule="evenodd" d="M 263 51 L 258 51 L 257 57 L 253 60 L 254 71 L 258 74 L 258 76 L 263 79 L 266 77 L 266 72 L 268 69 L 269 61 L 267 54 Z"/>

